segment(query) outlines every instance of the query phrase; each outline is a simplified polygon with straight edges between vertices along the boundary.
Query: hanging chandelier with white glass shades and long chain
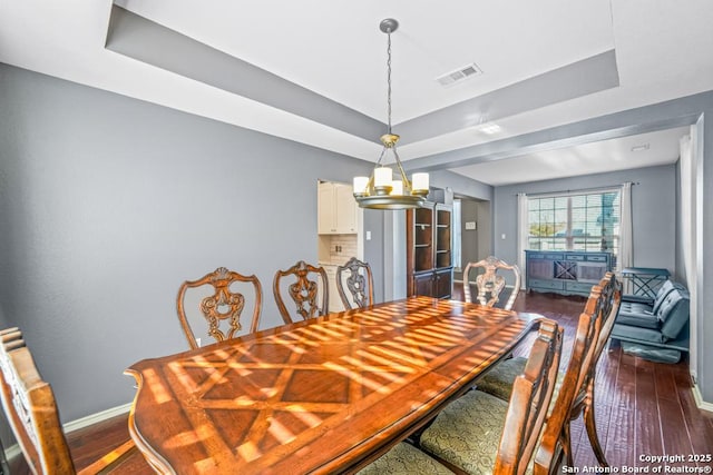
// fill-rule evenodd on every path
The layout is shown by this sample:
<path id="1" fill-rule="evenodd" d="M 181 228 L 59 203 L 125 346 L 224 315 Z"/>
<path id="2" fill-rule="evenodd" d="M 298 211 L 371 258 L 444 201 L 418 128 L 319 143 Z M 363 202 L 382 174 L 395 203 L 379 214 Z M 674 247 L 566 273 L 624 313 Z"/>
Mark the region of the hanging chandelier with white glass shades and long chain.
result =
<path id="1" fill-rule="evenodd" d="M 401 166 L 401 159 L 397 152 L 399 136 L 391 132 L 391 33 L 399 28 L 399 22 L 392 18 L 382 20 L 379 29 L 387 33 L 387 86 L 388 86 L 388 116 L 387 133 L 381 136 L 383 148 L 371 177 L 354 177 L 354 199 L 361 208 L 372 209 L 408 209 L 419 208 L 426 202 L 428 195 L 428 174 L 413 174 L 409 180 Z M 394 170 L 385 166 L 387 157 L 393 155 Z"/>

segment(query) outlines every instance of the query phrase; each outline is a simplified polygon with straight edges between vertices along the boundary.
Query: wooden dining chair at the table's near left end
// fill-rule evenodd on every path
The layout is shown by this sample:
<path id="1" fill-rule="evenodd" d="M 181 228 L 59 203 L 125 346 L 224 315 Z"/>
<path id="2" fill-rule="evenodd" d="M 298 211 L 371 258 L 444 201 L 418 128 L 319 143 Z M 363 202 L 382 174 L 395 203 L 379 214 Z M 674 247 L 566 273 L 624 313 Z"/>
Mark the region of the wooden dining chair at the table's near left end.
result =
<path id="1" fill-rule="evenodd" d="M 35 474 L 96 475 L 116 468 L 129 457 L 141 457 L 131 439 L 90 464 L 72 459 L 59 420 L 55 394 L 42 380 L 18 328 L 0 331 L 0 386 L 10 428 Z"/>

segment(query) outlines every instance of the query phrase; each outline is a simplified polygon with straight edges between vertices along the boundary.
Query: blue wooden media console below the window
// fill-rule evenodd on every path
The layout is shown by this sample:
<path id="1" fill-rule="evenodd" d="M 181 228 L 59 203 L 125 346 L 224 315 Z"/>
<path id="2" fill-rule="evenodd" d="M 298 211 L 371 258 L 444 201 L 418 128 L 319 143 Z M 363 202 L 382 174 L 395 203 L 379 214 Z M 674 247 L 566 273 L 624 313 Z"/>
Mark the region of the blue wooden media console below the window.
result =
<path id="1" fill-rule="evenodd" d="M 588 296 L 612 270 L 612 253 L 526 250 L 526 285 L 534 291 Z"/>

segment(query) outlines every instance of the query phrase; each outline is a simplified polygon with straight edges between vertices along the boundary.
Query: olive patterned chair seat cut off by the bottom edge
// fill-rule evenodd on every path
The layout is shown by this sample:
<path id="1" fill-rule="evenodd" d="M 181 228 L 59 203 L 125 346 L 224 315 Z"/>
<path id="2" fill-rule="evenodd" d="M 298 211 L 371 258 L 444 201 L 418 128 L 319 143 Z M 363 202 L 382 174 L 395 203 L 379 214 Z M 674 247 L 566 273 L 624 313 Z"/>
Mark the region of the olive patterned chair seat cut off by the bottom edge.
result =
<path id="1" fill-rule="evenodd" d="M 367 465 L 358 475 L 451 475 L 452 472 L 411 444 L 400 443 L 385 455 Z"/>

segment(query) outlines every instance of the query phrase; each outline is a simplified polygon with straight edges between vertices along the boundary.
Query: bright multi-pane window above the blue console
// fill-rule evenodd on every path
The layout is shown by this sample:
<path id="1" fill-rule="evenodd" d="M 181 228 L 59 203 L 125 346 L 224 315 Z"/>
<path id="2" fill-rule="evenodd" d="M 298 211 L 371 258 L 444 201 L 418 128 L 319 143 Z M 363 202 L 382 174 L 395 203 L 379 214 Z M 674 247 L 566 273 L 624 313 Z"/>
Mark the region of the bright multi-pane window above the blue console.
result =
<path id="1" fill-rule="evenodd" d="M 530 197 L 528 249 L 609 251 L 616 268 L 621 209 L 618 189 Z"/>

